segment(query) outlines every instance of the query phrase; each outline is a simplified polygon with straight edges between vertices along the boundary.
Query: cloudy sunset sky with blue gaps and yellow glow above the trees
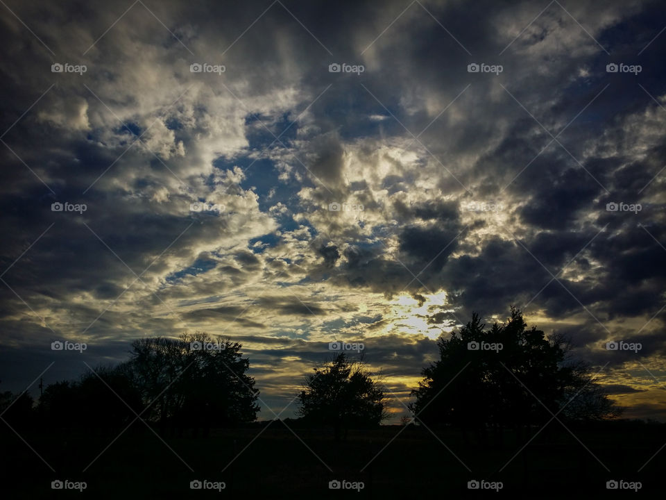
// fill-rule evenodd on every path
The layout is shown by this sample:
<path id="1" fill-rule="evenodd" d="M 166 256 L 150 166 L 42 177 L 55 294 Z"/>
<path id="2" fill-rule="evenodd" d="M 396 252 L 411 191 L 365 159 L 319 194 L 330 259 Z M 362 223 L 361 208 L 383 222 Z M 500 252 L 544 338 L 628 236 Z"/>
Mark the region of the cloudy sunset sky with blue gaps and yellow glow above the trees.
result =
<path id="1" fill-rule="evenodd" d="M 293 417 L 338 340 L 392 423 L 515 306 L 666 421 L 663 3 L 1 3 L 0 390 L 205 331 Z"/>

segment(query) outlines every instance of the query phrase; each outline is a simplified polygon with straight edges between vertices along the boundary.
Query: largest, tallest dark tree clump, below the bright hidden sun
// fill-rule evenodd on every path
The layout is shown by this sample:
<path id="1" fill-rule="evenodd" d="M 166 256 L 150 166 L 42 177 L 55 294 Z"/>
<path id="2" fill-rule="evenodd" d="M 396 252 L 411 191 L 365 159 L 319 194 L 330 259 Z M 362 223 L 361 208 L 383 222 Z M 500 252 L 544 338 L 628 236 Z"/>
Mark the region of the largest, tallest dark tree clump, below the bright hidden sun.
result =
<path id="1" fill-rule="evenodd" d="M 440 358 L 422 370 L 412 391 L 417 422 L 458 426 L 465 440 L 473 430 L 485 443 L 488 428 L 498 437 L 507 427 L 522 435 L 561 408 L 560 417 L 568 419 L 620 414 L 589 367 L 572 360 L 565 338 L 528 329 L 515 308 L 504 324 L 489 329 L 472 314 L 459 332 L 437 343 Z"/>

